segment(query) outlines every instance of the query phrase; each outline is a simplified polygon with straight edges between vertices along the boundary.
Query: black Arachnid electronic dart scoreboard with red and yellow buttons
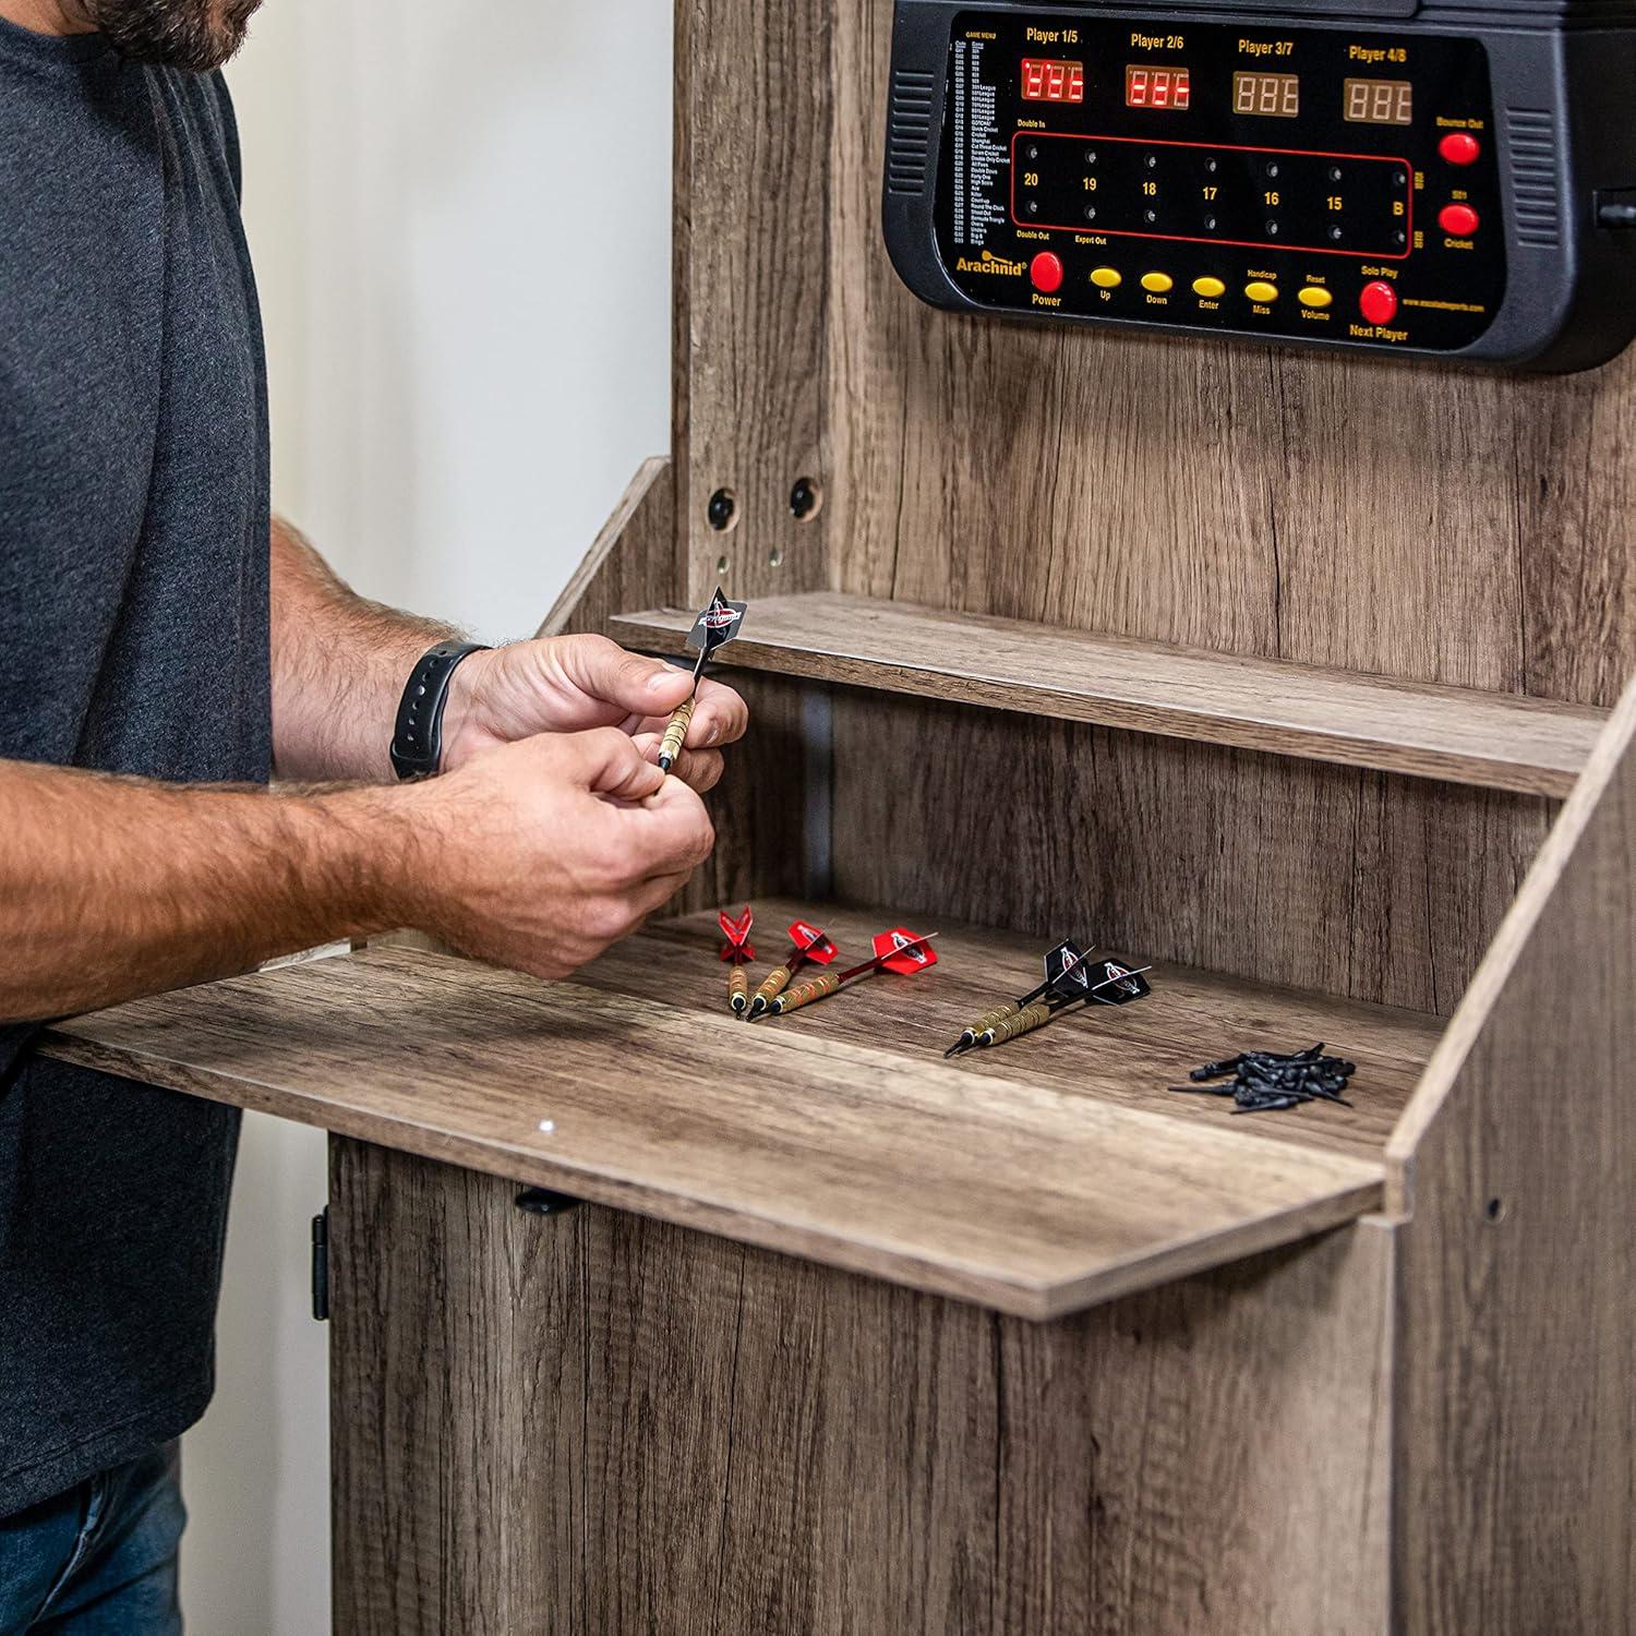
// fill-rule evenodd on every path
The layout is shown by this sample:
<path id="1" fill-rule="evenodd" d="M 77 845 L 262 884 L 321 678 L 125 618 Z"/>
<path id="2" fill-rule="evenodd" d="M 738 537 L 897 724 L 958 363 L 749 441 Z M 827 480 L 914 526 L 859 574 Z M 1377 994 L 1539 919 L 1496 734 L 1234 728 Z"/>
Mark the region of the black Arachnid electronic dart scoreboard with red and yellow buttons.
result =
<path id="1" fill-rule="evenodd" d="M 1538 370 L 1636 332 L 1631 0 L 898 0 L 890 98 L 936 306 Z"/>

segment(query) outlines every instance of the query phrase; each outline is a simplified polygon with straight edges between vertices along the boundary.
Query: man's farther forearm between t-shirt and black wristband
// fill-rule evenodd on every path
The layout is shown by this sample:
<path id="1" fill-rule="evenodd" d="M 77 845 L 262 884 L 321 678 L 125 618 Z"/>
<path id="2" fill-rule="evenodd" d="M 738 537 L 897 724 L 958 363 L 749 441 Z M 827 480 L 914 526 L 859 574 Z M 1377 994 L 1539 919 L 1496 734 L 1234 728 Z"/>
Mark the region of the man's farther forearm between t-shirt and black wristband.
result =
<path id="1" fill-rule="evenodd" d="M 448 625 L 370 602 L 273 522 L 273 767 L 283 779 L 391 779 L 398 699 Z"/>

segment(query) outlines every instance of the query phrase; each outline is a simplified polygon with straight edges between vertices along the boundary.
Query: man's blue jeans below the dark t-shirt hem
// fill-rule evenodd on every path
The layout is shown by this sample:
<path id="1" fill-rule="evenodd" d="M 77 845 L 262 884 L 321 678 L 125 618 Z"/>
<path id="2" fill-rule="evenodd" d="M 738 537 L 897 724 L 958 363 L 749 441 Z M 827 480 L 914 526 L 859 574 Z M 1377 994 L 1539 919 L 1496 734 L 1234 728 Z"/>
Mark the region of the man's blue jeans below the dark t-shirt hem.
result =
<path id="1" fill-rule="evenodd" d="M 180 1636 L 177 1443 L 0 1517 L 0 1636 Z"/>

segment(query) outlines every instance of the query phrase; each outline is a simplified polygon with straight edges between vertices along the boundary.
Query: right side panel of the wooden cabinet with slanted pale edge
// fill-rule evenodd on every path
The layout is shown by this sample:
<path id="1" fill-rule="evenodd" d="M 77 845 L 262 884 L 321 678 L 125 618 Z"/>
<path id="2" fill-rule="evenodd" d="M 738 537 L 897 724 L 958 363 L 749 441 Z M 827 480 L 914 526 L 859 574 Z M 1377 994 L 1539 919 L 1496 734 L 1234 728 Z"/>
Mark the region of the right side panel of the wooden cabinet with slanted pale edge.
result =
<path id="1" fill-rule="evenodd" d="M 1407 1629 L 1629 1621 L 1633 995 L 1636 684 L 1391 1145 Z"/>

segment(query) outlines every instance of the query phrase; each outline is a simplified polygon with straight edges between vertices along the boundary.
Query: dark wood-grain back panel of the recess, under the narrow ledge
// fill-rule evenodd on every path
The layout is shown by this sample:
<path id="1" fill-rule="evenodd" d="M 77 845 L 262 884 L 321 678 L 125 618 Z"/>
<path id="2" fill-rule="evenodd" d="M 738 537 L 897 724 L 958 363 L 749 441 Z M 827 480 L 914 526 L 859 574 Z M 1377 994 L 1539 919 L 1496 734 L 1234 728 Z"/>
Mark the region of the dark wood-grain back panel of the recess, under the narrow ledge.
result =
<path id="1" fill-rule="evenodd" d="M 836 694 L 834 887 L 1446 1014 L 1551 803 Z"/>

